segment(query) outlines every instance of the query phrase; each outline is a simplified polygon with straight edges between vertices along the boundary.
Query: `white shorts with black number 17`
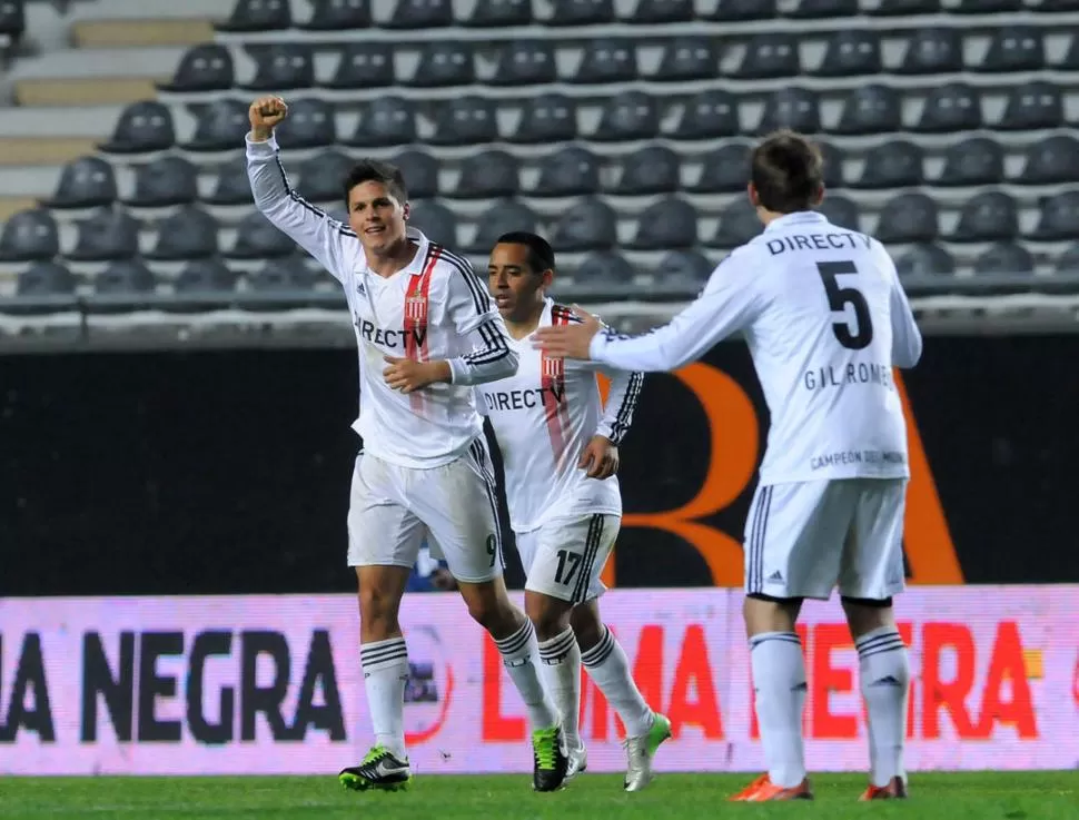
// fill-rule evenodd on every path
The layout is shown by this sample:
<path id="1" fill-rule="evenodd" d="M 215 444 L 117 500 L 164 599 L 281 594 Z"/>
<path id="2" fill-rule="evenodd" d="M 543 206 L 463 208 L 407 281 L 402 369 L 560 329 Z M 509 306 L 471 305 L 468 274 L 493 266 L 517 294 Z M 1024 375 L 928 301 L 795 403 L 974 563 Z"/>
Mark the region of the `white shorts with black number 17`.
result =
<path id="1" fill-rule="evenodd" d="M 607 589 L 600 573 L 621 526 L 621 516 L 595 513 L 553 518 L 536 530 L 516 533 L 525 590 L 573 604 L 600 597 Z"/>

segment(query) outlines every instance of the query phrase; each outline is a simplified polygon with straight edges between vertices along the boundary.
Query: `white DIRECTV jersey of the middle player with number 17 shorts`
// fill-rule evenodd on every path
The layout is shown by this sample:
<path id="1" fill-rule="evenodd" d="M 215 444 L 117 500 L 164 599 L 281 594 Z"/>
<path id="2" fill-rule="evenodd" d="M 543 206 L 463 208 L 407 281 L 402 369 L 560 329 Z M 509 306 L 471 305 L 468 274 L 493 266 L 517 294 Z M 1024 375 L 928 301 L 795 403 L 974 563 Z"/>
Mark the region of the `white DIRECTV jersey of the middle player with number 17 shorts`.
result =
<path id="1" fill-rule="evenodd" d="M 540 327 L 578 322 L 568 307 L 546 299 Z M 577 460 L 595 435 L 620 444 L 633 421 L 644 375 L 611 371 L 606 411 L 597 366 L 544 356 L 532 335 L 511 338 L 517 373 L 479 388 L 502 451 L 506 501 L 514 532 L 552 518 L 622 515 L 617 476 L 588 478 Z"/>

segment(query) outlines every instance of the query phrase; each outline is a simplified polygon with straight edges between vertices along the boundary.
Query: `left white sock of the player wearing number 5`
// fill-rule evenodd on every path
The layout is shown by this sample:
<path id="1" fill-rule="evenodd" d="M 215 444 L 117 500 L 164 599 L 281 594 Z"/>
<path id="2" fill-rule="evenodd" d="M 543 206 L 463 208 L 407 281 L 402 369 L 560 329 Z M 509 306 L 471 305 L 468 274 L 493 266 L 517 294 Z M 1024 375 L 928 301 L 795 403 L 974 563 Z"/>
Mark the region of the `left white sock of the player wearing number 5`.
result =
<path id="1" fill-rule="evenodd" d="M 802 710 L 805 659 L 794 632 L 763 632 L 750 639 L 756 722 L 772 783 L 790 789 L 805 779 Z"/>

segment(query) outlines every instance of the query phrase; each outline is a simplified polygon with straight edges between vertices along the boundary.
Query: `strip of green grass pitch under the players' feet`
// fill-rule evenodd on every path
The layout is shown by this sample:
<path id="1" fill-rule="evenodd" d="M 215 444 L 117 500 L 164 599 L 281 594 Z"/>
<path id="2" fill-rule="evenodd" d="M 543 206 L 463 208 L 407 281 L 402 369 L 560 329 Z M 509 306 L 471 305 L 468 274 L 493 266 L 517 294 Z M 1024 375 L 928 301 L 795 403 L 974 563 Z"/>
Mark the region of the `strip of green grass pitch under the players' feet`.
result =
<path id="1" fill-rule="evenodd" d="M 860 774 L 813 778 L 816 800 L 730 803 L 748 774 L 661 774 L 625 794 L 621 775 L 583 774 L 554 794 L 533 793 L 525 775 L 427 775 L 408 791 L 355 793 L 336 778 L 4 778 L 0 818 L 385 818 L 386 820 L 711 820 L 711 818 L 913 818 L 1077 820 L 1079 771 L 914 773 L 911 799 L 857 802 Z"/>

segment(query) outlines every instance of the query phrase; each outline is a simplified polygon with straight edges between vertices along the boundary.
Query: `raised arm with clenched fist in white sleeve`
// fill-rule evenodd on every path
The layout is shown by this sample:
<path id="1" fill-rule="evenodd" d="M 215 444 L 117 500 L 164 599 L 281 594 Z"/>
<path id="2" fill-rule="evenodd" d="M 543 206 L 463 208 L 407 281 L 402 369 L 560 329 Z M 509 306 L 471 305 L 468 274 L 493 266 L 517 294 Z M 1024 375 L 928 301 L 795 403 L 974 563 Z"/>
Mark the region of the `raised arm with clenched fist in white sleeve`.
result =
<path id="1" fill-rule="evenodd" d="M 280 162 L 274 129 L 288 116 L 280 97 L 259 97 L 247 111 L 247 177 L 255 206 L 338 279 L 343 276 L 341 239 L 348 230 L 293 191 Z"/>

